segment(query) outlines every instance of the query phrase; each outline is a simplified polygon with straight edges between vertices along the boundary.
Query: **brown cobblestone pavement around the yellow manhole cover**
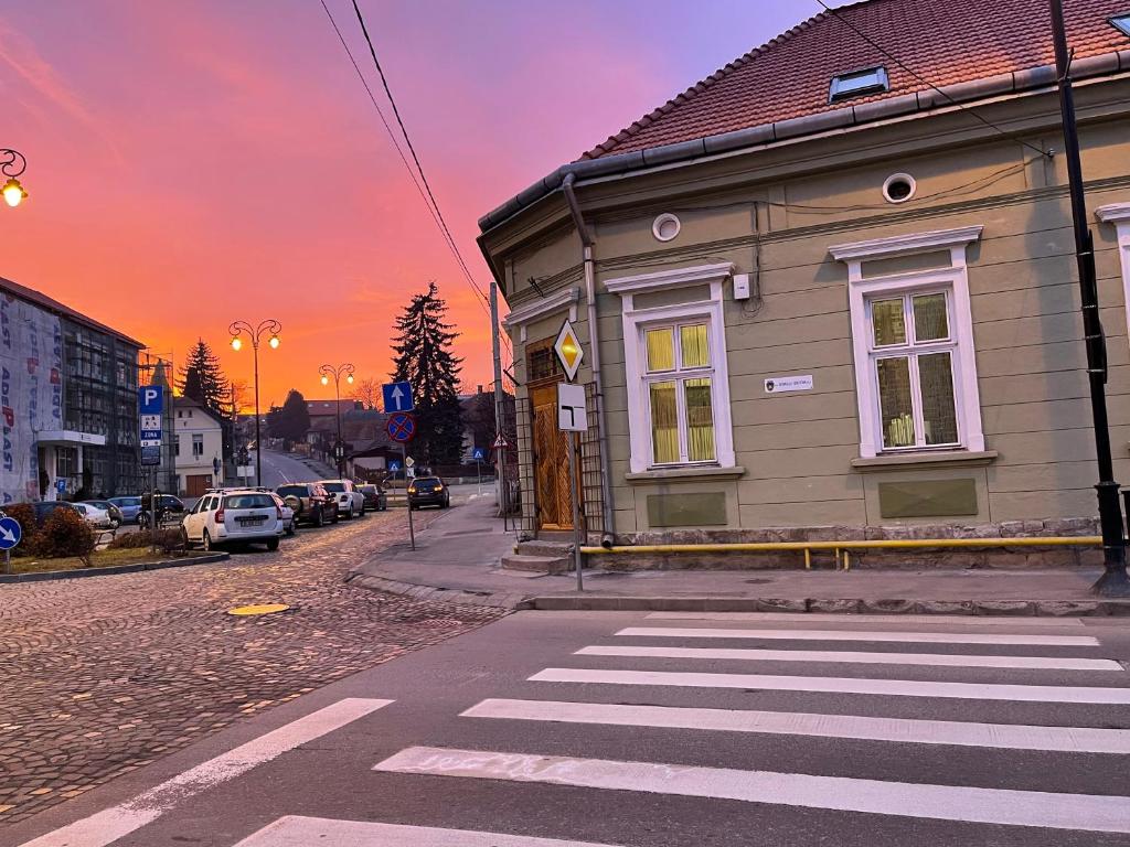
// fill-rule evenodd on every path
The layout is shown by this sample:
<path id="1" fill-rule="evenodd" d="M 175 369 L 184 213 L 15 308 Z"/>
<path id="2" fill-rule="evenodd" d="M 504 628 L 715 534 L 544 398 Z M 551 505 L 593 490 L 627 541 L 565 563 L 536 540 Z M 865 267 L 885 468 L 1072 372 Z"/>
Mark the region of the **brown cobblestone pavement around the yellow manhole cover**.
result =
<path id="1" fill-rule="evenodd" d="M 0 841 L 6 823 L 502 614 L 344 583 L 405 534 L 385 512 L 218 565 L 0 586 Z M 267 602 L 292 609 L 227 614 Z"/>

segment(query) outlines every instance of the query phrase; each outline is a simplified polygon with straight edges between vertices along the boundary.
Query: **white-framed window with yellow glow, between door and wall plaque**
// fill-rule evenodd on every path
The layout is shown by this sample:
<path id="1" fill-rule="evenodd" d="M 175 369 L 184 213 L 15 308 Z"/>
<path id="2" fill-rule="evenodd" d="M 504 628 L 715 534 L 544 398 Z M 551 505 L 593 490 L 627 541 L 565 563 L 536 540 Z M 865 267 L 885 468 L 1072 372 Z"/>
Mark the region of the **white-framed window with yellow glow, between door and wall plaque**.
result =
<path id="1" fill-rule="evenodd" d="M 734 466 L 722 315 L 732 272 L 725 262 L 605 282 L 623 298 L 633 473 Z M 685 303 L 652 306 L 640 296 L 680 288 Z"/>

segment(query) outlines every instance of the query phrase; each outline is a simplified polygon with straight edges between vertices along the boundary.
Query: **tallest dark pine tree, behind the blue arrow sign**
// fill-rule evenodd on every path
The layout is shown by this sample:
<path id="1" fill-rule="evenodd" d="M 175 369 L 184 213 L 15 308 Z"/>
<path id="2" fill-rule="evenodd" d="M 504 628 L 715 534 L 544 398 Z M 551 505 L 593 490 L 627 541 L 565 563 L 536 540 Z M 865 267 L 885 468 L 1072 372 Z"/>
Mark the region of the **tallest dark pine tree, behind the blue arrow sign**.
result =
<path id="1" fill-rule="evenodd" d="M 435 282 L 418 294 L 397 318 L 392 346 L 394 382 L 409 382 L 416 400 L 416 439 L 411 451 L 426 468 L 459 464 L 463 452 L 459 372 L 463 360 L 451 351 L 459 333 L 444 323 L 447 304 Z"/>

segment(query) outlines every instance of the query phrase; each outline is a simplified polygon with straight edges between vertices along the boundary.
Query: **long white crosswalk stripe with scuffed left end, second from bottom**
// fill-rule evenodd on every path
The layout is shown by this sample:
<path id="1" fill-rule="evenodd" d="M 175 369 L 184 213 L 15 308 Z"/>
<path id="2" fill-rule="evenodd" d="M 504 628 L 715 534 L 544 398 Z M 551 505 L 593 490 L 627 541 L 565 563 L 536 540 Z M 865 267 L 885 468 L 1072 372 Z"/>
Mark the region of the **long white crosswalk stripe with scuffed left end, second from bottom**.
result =
<path id="1" fill-rule="evenodd" d="M 718 797 L 899 818 L 1130 832 L 1130 798 L 1090 794 L 970 788 L 429 746 L 408 748 L 373 769 L 397 774 Z"/>

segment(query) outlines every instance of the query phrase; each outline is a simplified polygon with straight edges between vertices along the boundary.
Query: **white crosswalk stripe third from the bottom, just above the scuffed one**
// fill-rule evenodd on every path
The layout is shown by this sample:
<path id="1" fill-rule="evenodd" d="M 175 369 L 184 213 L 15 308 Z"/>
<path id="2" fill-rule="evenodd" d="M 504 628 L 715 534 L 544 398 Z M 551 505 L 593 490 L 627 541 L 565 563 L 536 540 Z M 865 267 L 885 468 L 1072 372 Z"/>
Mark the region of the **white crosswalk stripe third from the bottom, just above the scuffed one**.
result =
<path id="1" fill-rule="evenodd" d="M 964 721 L 911 721 L 798 711 L 505 699 L 484 700 L 467 709 L 461 717 L 808 735 L 822 739 L 1045 750 L 1059 753 L 1130 753 L 1130 730 L 1096 730 L 1087 726 L 974 724 Z"/>

